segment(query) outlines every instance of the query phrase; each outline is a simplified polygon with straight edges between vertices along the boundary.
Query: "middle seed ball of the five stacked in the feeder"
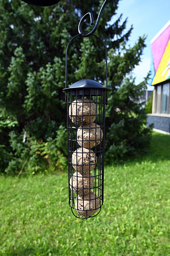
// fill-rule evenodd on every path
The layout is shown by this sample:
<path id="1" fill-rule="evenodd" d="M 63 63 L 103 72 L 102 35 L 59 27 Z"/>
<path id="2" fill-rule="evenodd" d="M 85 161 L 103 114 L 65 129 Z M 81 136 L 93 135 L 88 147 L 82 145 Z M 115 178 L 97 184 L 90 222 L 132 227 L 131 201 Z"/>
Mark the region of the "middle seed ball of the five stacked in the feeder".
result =
<path id="1" fill-rule="evenodd" d="M 92 171 L 96 162 L 96 154 L 87 148 L 78 148 L 72 154 L 72 166 L 81 174 Z"/>

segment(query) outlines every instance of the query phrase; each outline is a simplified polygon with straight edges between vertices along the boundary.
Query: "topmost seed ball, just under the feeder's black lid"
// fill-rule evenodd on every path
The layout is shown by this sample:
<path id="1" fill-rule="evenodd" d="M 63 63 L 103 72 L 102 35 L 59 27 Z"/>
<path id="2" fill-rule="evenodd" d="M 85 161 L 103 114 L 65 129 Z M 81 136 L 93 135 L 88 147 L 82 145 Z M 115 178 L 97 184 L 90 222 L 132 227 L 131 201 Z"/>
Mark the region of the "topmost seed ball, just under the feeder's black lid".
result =
<path id="1" fill-rule="evenodd" d="M 69 106 L 69 117 L 73 123 L 81 125 L 93 123 L 96 119 L 98 108 L 88 99 L 74 100 Z"/>

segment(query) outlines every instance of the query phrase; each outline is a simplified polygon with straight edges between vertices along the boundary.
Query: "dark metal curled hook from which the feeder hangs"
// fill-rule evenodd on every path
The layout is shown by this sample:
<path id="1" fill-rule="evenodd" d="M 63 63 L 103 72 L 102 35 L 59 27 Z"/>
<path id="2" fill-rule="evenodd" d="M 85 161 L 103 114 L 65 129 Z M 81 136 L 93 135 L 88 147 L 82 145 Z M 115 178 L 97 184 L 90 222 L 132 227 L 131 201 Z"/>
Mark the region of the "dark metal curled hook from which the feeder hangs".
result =
<path id="1" fill-rule="evenodd" d="M 79 22 L 79 26 L 78 26 L 78 31 L 79 31 L 79 34 L 83 34 L 82 36 L 83 37 L 89 37 L 91 36 L 95 31 L 96 29 L 98 28 L 98 25 L 99 25 L 99 22 L 100 22 L 100 19 L 102 17 L 102 13 L 107 5 L 109 0 L 105 0 L 104 3 L 102 4 L 102 7 L 100 9 L 100 12 L 98 14 L 98 18 L 96 20 L 96 24 L 94 26 L 94 28 L 89 32 L 89 33 L 82 33 L 81 31 L 81 28 L 82 28 L 82 25 L 83 25 L 83 22 L 85 21 L 85 18 L 89 15 L 90 16 L 90 24 L 93 25 L 94 24 L 94 18 L 93 18 L 93 14 L 92 13 L 86 13 L 80 20 Z"/>

